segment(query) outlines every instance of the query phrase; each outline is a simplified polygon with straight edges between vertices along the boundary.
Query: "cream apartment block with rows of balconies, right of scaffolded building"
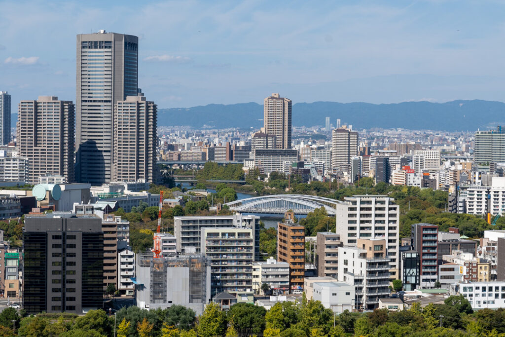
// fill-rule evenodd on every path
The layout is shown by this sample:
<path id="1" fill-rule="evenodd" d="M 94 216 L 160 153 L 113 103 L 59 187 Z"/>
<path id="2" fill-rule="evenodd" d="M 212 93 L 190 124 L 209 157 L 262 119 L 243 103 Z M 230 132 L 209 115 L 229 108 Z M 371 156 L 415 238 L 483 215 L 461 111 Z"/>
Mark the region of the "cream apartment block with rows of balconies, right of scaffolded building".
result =
<path id="1" fill-rule="evenodd" d="M 227 292 L 252 297 L 255 258 L 252 228 L 201 228 L 201 253 L 211 263 L 211 296 Z"/>

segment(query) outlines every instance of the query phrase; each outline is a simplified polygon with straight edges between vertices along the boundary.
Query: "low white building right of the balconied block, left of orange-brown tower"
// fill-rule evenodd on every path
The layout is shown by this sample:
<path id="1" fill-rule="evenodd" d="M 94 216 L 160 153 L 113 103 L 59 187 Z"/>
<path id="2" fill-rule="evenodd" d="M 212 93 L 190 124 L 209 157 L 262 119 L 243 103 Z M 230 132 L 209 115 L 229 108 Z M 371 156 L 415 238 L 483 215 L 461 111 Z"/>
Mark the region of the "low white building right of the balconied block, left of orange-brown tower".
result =
<path id="1" fill-rule="evenodd" d="M 252 290 L 255 294 L 268 295 L 263 291 L 264 283 L 268 284 L 269 294 L 289 292 L 289 263 L 270 257 L 267 261 L 252 264 Z"/>

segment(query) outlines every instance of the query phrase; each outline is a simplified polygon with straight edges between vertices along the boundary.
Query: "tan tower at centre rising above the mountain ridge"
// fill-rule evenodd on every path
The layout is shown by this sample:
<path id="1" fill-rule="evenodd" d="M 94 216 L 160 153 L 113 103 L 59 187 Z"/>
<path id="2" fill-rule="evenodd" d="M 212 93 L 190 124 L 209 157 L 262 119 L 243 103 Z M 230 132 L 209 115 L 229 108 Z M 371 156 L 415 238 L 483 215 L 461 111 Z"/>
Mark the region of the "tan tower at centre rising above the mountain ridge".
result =
<path id="1" fill-rule="evenodd" d="M 265 99 L 264 132 L 274 134 L 276 149 L 291 149 L 291 100 L 272 93 Z"/>

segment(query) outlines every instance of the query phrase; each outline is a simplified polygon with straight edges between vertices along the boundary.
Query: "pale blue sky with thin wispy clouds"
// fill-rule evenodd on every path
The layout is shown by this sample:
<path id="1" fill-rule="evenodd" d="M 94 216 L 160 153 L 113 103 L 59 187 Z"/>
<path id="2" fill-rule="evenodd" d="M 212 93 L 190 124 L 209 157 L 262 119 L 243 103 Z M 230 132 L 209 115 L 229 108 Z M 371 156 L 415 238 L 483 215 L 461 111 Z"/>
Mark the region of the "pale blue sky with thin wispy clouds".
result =
<path id="1" fill-rule="evenodd" d="M 159 108 L 505 101 L 503 1 L 0 1 L 0 90 L 75 101 L 75 35 L 137 35 Z"/>

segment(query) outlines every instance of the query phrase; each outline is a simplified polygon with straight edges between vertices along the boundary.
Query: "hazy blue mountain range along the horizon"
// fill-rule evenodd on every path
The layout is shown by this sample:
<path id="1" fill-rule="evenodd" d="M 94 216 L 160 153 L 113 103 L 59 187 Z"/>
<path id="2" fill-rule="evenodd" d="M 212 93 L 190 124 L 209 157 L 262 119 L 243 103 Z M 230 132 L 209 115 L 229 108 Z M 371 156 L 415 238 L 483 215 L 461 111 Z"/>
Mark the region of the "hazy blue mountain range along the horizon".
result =
<path id="1" fill-rule="evenodd" d="M 294 126 L 324 125 L 325 117 L 336 126 L 362 128 L 406 128 L 431 130 L 477 130 L 505 125 L 505 103 L 452 101 L 447 103 L 403 102 L 398 104 L 314 102 L 296 103 L 292 108 Z M 12 115 L 12 126 L 17 114 Z M 257 103 L 209 104 L 192 108 L 158 110 L 158 126 L 187 125 L 195 128 L 259 128 L 263 126 L 263 105 Z"/>

